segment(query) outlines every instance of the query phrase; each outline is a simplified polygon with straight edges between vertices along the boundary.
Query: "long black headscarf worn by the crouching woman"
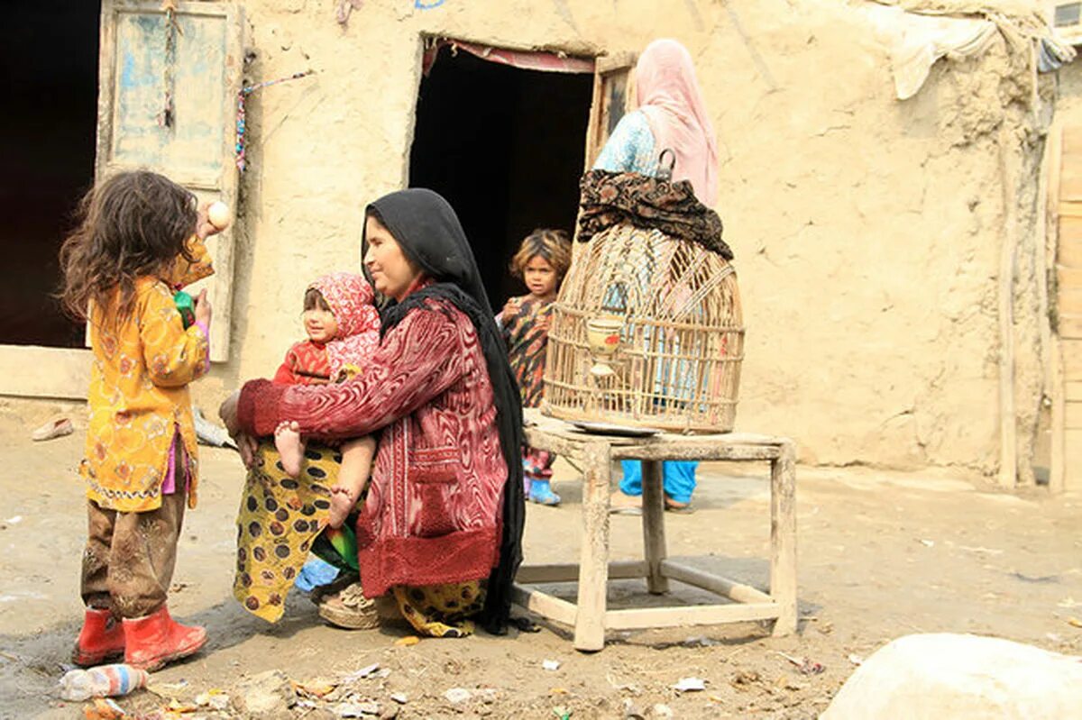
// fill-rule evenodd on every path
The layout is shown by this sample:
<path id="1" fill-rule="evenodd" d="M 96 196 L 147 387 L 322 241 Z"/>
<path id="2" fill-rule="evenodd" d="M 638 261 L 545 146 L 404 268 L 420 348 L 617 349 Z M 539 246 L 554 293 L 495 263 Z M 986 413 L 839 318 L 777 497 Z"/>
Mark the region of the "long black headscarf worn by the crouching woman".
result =
<path id="1" fill-rule="evenodd" d="M 483 625 L 489 632 L 503 635 L 511 615 L 511 586 L 523 561 L 526 516 L 522 396 L 507 363 L 507 349 L 496 326 L 465 231 L 447 200 L 432 190 L 399 190 L 368 205 L 368 214 L 374 215 L 391 231 L 406 256 L 435 280 L 434 284 L 410 293 L 401 302 L 386 305 L 381 312 L 383 332 L 401 322 L 410 310 L 423 307 L 425 301 L 443 299 L 470 318 L 485 354 L 496 400 L 500 448 L 507 463 L 507 482 L 503 488 L 500 563 L 488 578 Z M 366 238 L 364 252 L 367 251 Z"/>

